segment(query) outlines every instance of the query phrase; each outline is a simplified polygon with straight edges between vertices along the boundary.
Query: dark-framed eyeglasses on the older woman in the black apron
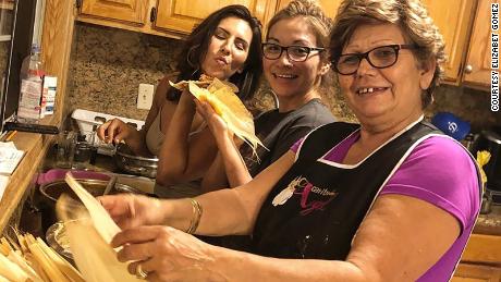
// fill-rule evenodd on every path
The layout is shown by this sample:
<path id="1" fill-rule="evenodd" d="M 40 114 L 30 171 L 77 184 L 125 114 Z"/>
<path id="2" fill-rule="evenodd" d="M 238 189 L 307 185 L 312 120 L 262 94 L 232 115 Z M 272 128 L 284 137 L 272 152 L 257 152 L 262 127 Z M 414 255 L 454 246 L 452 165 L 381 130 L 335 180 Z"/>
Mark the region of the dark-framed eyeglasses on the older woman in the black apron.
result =
<path id="1" fill-rule="evenodd" d="M 377 69 L 390 68 L 399 60 L 399 51 L 402 49 L 417 49 L 416 45 L 387 45 L 376 47 L 365 53 L 345 53 L 332 61 L 332 69 L 342 75 L 354 74 L 363 59 Z"/>

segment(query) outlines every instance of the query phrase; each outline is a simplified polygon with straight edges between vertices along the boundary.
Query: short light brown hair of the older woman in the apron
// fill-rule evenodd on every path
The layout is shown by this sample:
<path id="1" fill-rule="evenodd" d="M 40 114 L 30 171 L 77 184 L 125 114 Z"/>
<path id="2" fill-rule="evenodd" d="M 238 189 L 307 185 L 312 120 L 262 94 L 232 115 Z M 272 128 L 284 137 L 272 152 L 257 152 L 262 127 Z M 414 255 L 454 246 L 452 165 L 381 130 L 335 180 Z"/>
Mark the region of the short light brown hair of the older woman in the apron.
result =
<path id="1" fill-rule="evenodd" d="M 439 33 L 426 8 L 419 0 L 344 0 L 330 34 L 330 56 L 337 61 L 355 29 L 363 24 L 391 23 L 400 26 L 408 44 L 419 48 L 414 53 L 419 63 L 437 62 L 430 86 L 421 96 L 423 108 L 432 101 L 435 88 L 443 75 L 445 51 Z"/>

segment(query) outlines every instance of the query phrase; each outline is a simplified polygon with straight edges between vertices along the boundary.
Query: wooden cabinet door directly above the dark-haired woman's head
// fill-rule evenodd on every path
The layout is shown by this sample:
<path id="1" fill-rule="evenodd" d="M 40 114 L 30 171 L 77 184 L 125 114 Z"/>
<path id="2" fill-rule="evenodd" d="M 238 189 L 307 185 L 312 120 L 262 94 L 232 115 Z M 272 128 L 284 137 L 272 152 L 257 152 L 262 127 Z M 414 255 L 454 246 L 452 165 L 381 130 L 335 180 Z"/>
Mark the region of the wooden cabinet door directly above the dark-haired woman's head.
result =
<path id="1" fill-rule="evenodd" d="M 276 8 L 273 0 L 158 0 L 155 26 L 190 34 L 210 13 L 230 4 L 247 7 L 264 25 Z"/>

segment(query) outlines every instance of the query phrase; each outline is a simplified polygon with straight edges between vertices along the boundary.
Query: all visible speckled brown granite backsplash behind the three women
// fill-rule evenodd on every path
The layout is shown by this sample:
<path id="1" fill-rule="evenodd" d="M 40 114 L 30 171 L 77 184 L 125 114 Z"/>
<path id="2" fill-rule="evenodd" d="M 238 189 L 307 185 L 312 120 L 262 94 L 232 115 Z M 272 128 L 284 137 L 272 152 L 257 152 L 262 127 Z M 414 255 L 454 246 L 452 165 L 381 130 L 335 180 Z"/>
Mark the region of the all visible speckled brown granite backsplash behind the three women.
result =
<path id="1" fill-rule="evenodd" d="M 175 56 L 183 41 L 111 27 L 76 23 L 68 84 L 69 113 L 74 109 L 99 111 L 144 120 L 147 110 L 136 108 L 140 83 L 156 84 L 175 68 Z M 259 109 L 269 109 L 271 96 L 266 83 L 256 95 Z M 326 93 L 333 114 L 354 121 L 344 99 L 331 87 Z M 329 102 L 335 101 L 335 102 Z M 501 124 L 501 113 L 490 112 L 486 91 L 441 86 L 426 115 L 450 111 L 472 123 L 474 131 Z"/>

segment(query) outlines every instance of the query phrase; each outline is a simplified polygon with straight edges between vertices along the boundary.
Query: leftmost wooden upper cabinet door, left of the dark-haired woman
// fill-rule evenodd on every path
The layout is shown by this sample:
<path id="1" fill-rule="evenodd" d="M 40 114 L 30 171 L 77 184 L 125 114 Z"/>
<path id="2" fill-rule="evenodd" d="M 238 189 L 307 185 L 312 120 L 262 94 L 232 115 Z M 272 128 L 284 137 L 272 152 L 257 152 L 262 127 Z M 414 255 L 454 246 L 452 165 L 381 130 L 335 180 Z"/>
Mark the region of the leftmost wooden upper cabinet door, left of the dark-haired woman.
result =
<path id="1" fill-rule="evenodd" d="M 142 26 L 148 4 L 149 0 L 83 0 L 80 14 Z"/>

